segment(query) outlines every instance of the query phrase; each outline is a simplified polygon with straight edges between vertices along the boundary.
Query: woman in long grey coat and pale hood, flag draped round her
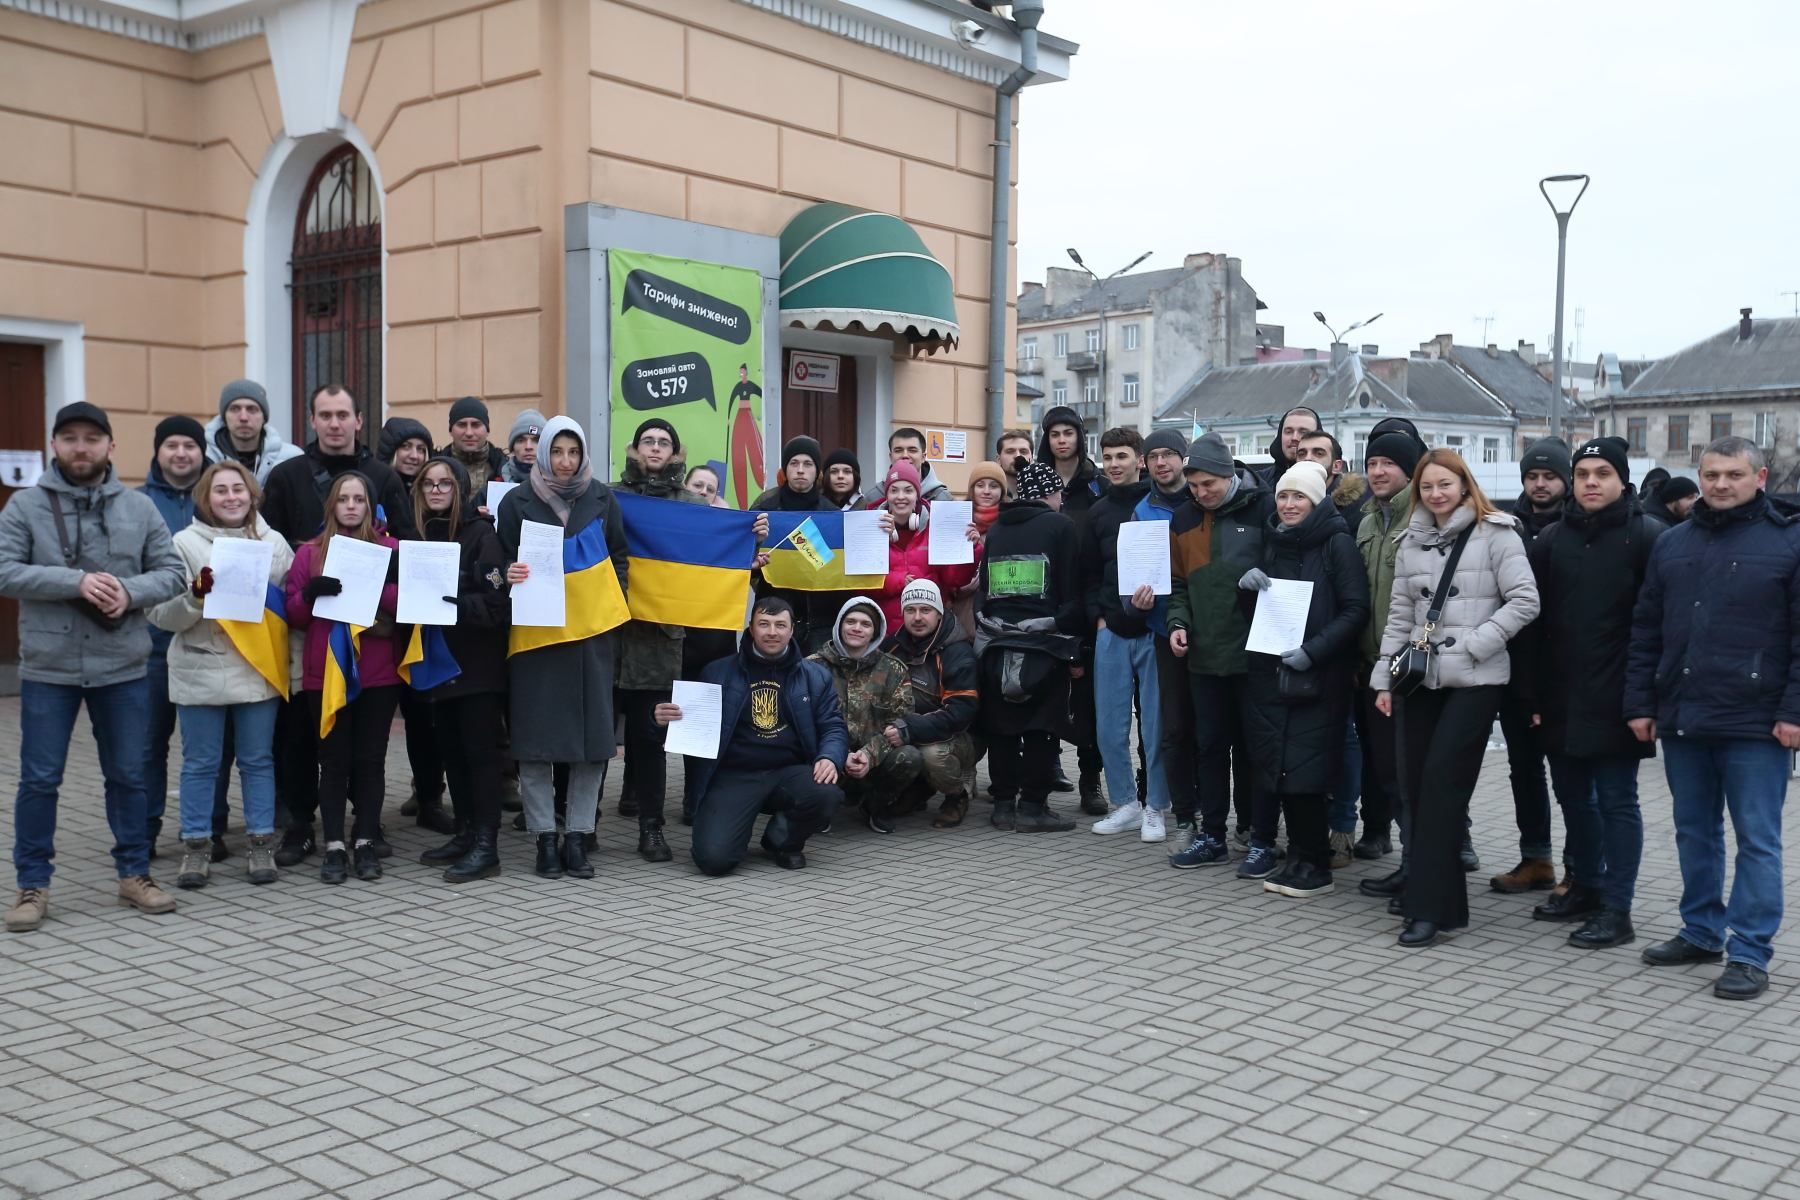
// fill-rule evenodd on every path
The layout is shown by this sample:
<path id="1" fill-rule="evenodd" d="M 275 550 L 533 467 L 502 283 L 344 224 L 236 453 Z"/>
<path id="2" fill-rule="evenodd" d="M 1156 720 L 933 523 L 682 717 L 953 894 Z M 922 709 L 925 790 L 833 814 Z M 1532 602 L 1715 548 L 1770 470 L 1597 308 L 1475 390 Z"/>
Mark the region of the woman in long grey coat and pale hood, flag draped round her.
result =
<path id="1" fill-rule="evenodd" d="M 612 730 L 616 640 L 612 628 L 616 626 L 608 626 L 608 617 L 587 608 L 585 587 L 583 596 L 578 596 L 569 585 L 576 576 L 601 572 L 610 561 L 623 594 L 626 551 L 625 516 L 612 498 L 612 489 L 594 479 L 587 434 L 569 417 L 551 417 L 544 425 L 531 479 L 500 500 L 499 534 L 506 556 L 513 560 L 506 569 L 506 581 L 513 588 L 531 579 L 529 565 L 517 561 L 527 522 L 562 529 L 567 617 L 554 631 L 533 628 L 536 644 L 529 649 L 515 648 L 508 658 L 518 792 L 526 802 L 526 829 L 538 844 L 536 873 L 547 880 L 565 874 L 590 880 L 594 867 L 587 860 L 585 840 L 599 815 L 599 786 L 607 779 L 607 763 L 617 754 Z M 576 545 L 571 547 L 571 542 Z M 599 549 L 599 556 L 587 563 L 585 556 L 592 549 Z M 571 558 L 580 558 L 581 565 L 571 567 Z M 520 635 L 517 615 L 515 644 Z M 607 631 L 581 635 L 583 628 L 594 626 Z M 569 765 L 569 810 L 560 849 L 553 783 L 556 763 Z"/>

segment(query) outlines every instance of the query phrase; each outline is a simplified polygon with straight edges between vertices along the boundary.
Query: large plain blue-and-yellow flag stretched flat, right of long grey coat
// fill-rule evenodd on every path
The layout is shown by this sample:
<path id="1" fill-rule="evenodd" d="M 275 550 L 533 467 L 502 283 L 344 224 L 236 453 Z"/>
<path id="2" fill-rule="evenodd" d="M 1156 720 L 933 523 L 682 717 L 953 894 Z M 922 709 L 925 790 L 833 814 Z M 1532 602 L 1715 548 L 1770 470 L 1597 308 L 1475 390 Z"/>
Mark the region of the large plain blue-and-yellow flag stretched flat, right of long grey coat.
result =
<path id="1" fill-rule="evenodd" d="M 756 513 L 614 491 L 632 556 L 632 617 L 742 630 Z"/>

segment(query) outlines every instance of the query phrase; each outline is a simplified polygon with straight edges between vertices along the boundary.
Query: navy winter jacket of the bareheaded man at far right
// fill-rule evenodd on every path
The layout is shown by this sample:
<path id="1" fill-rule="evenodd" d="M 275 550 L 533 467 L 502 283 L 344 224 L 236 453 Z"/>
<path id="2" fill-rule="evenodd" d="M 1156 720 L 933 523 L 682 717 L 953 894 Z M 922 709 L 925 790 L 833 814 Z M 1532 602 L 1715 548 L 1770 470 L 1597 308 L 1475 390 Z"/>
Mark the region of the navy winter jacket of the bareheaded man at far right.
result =
<path id="1" fill-rule="evenodd" d="M 1705 500 L 1656 540 L 1631 619 L 1625 720 L 1661 738 L 1773 736 L 1800 725 L 1800 520 L 1757 495 Z"/>

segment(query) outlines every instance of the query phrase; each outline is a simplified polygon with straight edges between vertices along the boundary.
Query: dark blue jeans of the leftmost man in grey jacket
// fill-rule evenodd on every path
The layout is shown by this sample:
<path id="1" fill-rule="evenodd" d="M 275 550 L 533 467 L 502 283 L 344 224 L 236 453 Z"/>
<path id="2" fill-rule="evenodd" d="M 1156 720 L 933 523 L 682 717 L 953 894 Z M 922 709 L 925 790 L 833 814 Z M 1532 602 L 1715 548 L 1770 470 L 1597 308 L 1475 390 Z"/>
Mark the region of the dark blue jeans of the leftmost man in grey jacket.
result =
<path id="1" fill-rule="evenodd" d="M 149 874 L 144 826 L 144 741 L 149 738 L 149 685 L 137 678 L 108 687 L 20 680 L 18 799 L 13 802 L 13 867 L 20 887 L 49 887 L 56 858 L 56 793 L 68 763 L 76 714 L 88 723 L 106 781 L 106 824 L 119 878 Z"/>

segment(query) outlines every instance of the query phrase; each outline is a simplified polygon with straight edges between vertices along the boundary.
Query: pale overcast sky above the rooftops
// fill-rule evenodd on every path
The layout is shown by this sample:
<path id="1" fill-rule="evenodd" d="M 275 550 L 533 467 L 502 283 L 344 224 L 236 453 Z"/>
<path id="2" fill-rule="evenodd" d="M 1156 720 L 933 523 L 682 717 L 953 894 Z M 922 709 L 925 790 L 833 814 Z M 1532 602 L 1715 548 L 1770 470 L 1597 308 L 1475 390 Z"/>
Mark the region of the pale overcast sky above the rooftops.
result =
<path id="1" fill-rule="evenodd" d="M 1588 173 L 1564 342 L 1658 356 L 1800 290 L 1800 4 L 1048 0 L 1078 41 L 1021 108 L 1019 275 L 1213 250 L 1287 326 L 1384 353 L 1550 351 L 1546 175 Z M 1575 309 L 1584 309 L 1575 345 Z"/>

